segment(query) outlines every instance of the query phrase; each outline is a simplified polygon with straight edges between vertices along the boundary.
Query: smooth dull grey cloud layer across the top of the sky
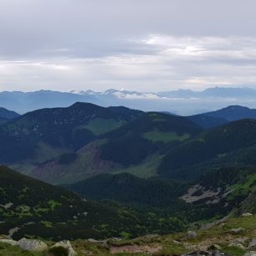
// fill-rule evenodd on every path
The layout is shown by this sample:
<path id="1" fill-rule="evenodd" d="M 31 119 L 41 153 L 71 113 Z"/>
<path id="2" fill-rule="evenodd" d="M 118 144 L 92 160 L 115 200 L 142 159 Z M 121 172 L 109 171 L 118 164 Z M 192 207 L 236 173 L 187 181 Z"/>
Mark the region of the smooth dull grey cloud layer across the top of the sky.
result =
<path id="1" fill-rule="evenodd" d="M 94 51 L 95 43 L 149 33 L 252 36 L 255 9 L 253 0 L 2 0 L 0 46 L 4 53 L 37 54 L 77 44 Z"/>

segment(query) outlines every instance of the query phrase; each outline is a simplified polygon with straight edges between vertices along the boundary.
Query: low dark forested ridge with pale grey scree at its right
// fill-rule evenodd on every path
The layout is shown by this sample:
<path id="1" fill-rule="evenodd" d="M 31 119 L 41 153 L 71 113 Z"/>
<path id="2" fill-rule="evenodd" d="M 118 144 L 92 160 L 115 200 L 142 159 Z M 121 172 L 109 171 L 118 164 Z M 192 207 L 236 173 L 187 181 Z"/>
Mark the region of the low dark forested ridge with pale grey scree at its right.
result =
<path id="1" fill-rule="evenodd" d="M 187 183 L 160 177 L 141 179 L 126 173 L 101 174 L 65 187 L 92 200 L 161 208 L 188 222 L 198 222 L 224 217 L 238 207 L 256 187 L 256 169 L 223 167 Z"/>

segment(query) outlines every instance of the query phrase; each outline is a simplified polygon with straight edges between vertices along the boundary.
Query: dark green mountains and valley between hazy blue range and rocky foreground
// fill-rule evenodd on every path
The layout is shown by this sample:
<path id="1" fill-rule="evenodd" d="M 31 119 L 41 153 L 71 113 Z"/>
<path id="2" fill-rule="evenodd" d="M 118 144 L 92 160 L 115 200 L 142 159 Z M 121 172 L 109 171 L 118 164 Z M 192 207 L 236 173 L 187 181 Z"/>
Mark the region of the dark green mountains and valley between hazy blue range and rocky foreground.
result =
<path id="1" fill-rule="evenodd" d="M 69 239 L 99 255 L 134 243 L 141 255 L 145 246 L 186 253 L 164 241 L 207 225 L 214 240 L 214 227 L 228 232 L 214 223 L 256 213 L 253 118 L 241 106 L 186 117 L 89 103 L 12 116 L 0 125 L 1 233 Z M 92 248 L 90 238 L 109 242 Z"/>

